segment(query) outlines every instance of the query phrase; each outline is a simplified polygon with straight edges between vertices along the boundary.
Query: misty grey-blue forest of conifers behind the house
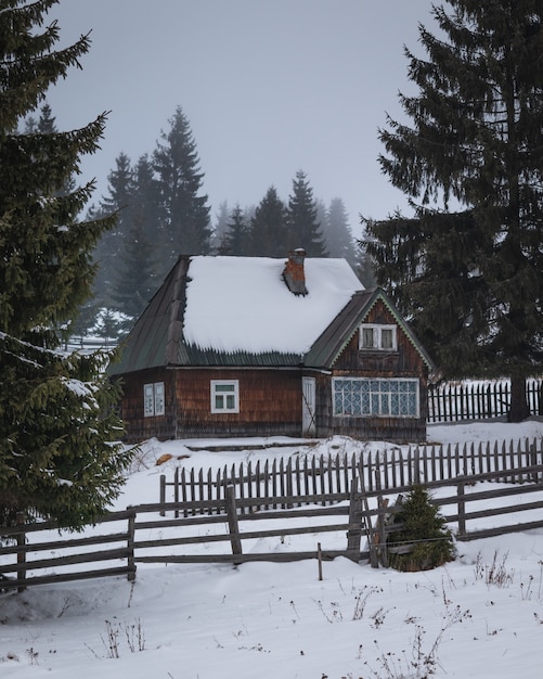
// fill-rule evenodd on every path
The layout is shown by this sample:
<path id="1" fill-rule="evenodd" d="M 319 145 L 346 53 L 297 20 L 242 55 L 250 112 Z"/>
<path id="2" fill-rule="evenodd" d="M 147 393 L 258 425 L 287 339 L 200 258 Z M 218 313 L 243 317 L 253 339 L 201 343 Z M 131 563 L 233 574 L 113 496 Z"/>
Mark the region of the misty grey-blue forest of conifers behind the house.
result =
<path id="1" fill-rule="evenodd" d="M 298 170 L 286 200 L 272 184 L 258 205 L 223 202 L 211 215 L 190 120 L 178 107 L 168 124 L 151 153 L 135 161 L 119 153 L 107 175 L 106 194 L 88 209 L 89 220 L 115 214 L 117 223 L 94 249 L 93 297 L 67 336 L 119 340 L 179 255 L 285 257 L 303 247 L 309 257 L 347 259 L 365 286 L 374 284 L 371 260 L 352 236 L 340 197 L 326 205 Z M 38 118 L 25 121 L 25 133 L 55 131 L 47 103 Z"/>

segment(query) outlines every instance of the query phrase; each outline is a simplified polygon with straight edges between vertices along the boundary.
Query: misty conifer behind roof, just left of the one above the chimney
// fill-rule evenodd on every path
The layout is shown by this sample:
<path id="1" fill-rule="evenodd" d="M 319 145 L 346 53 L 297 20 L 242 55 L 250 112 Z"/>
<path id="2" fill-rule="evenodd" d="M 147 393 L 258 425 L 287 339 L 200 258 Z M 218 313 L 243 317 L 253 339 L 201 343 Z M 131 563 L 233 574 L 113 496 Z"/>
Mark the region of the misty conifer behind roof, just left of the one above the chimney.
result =
<path id="1" fill-rule="evenodd" d="M 285 257 L 289 246 L 287 209 L 275 187 L 270 187 L 250 220 L 249 254 Z"/>

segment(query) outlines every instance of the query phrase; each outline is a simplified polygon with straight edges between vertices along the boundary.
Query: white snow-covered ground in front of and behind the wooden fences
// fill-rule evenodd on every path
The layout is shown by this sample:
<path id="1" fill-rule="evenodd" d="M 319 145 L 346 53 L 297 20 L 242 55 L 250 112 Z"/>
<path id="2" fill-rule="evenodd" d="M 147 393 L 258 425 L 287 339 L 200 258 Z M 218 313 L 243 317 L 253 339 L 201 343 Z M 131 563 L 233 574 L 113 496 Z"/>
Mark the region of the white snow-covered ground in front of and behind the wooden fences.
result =
<path id="1" fill-rule="evenodd" d="M 443 444 L 525 436 L 543 436 L 543 422 L 429 427 L 429 440 Z M 238 452 L 211 451 L 210 441 L 189 450 L 194 443 L 146 446 L 117 509 L 156 502 L 168 465 L 207 469 L 290 450 L 257 449 L 266 441 L 256 439 Z M 190 457 L 155 466 L 164 452 Z M 315 561 L 140 565 L 134 584 L 104 578 L 0 594 L 0 677 L 539 679 L 543 530 L 457 550 L 454 562 L 425 573 L 346 559 L 325 562 L 323 580 Z"/>

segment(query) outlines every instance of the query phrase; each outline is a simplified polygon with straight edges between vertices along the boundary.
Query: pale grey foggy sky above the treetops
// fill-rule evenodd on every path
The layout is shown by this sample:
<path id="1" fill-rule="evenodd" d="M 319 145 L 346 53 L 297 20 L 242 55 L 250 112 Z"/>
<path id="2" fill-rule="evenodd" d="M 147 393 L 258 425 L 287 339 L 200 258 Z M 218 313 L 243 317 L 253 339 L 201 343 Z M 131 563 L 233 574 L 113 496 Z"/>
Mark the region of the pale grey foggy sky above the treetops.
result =
<path id="1" fill-rule="evenodd" d="M 403 44 L 434 29 L 431 0 L 61 0 L 61 40 L 91 33 L 82 71 L 49 90 L 59 129 L 111 111 L 102 150 L 83 163 L 106 191 L 120 152 L 152 153 L 176 107 L 196 141 L 215 221 L 220 203 L 286 201 L 302 169 L 315 197 L 384 218 L 405 197 L 380 172 L 377 128 L 409 91 Z"/>

